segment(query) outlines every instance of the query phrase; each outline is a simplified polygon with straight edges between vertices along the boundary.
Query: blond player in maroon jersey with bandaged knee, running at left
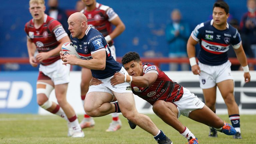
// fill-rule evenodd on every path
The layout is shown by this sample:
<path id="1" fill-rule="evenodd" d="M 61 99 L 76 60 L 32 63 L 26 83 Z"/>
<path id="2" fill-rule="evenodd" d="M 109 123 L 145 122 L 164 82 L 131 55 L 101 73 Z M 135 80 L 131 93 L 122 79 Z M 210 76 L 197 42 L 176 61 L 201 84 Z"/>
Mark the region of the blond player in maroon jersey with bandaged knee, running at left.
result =
<path id="1" fill-rule="evenodd" d="M 70 65 L 62 65 L 59 52 L 70 39 L 60 22 L 45 14 L 44 0 L 30 0 L 29 12 L 33 19 L 25 25 L 29 62 L 33 67 L 40 62 L 37 80 L 37 103 L 45 110 L 65 118 L 68 136 L 84 137 L 75 111 L 66 100 Z M 34 57 L 35 51 L 39 53 Z M 49 101 L 55 89 L 58 104 Z"/>

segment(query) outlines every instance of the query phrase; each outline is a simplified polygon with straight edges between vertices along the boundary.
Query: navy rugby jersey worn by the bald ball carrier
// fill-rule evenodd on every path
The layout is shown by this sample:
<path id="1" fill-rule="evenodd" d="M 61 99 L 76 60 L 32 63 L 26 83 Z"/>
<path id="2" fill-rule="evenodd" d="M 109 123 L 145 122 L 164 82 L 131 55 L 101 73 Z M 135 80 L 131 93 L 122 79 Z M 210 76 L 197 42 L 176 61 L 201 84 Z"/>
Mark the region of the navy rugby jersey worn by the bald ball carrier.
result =
<path id="1" fill-rule="evenodd" d="M 70 39 L 82 59 L 90 60 L 92 59 L 91 54 L 101 50 L 106 51 L 106 67 L 104 70 L 91 70 L 93 77 L 105 79 L 121 70 L 122 65 L 114 60 L 105 38 L 98 30 L 88 26 L 82 39 L 73 38 L 72 35 L 70 35 Z"/>

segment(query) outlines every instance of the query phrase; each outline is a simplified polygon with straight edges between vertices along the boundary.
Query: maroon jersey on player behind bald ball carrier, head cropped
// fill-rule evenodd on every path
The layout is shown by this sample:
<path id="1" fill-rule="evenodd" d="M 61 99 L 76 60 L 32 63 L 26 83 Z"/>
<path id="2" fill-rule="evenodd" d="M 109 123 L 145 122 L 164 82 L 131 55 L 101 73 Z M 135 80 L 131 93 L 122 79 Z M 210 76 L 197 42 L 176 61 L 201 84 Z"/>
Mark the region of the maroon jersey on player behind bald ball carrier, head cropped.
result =
<path id="1" fill-rule="evenodd" d="M 110 21 L 118 16 L 111 7 L 100 3 L 96 3 L 96 8 L 92 11 L 87 11 L 85 7 L 81 12 L 86 16 L 88 25 L 97 29 L 104 37 L 112 32 Z M 113 41 L 109 43 L 109 46 L 112 45 Z"/>

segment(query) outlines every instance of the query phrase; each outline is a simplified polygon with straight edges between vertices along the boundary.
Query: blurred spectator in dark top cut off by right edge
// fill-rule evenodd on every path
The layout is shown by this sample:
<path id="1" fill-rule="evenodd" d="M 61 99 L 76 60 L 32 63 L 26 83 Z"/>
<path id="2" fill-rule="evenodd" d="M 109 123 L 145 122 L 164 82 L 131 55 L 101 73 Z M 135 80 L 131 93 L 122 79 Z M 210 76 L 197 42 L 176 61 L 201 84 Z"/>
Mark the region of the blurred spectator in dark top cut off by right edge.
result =
<path id="1" fill-rule="evenodd" d="M 248 12 L 241 19 L 241 33 L 245 34 L 251 49 L 256 52 L 256 0 L 247 0 Z"/>

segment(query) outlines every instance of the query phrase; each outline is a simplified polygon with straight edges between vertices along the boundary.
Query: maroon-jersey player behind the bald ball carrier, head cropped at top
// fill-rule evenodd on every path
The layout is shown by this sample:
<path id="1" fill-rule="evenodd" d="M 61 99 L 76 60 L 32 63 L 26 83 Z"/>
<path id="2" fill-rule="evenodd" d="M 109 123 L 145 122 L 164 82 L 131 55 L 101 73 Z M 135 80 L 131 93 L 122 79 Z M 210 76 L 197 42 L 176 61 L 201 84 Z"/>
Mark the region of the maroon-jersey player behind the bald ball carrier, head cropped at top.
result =
<path id="1" fill-rule="evenodd" d="M 81 11 L 87 17 L 88 25 L 97 29 L 105 37 L 111 55 L 116 60 L 115 46 L 112 39 L 116 38 L 125 30 L 125 25 L 114 10 L 109 7 L 97 3 L 96 0 L 82 0 L 86 7 Z M 115 29 L 112 31 L 111 25 L 115 25 Z M 85 99 L 85 95 L 88 92 L 89 82 L 92 78 L 91 71 L 86 68 L 82 68 L 82 81 L 81 81 L 81 98 Z M 95 124 L 93 118 L 84 115 L 84 119 L 80 123 L 82 128 L 91 127 Z M 112 114 L 112 122 L 106 131 L 116 131 L 121 128 L 121 121 L 118 118 L 118 113 Z"/>

